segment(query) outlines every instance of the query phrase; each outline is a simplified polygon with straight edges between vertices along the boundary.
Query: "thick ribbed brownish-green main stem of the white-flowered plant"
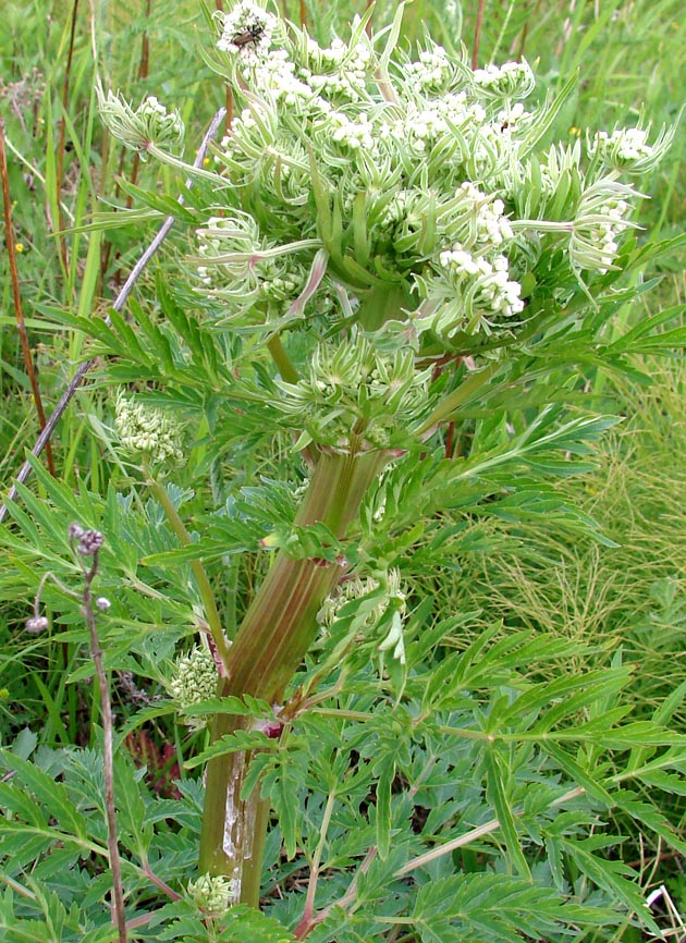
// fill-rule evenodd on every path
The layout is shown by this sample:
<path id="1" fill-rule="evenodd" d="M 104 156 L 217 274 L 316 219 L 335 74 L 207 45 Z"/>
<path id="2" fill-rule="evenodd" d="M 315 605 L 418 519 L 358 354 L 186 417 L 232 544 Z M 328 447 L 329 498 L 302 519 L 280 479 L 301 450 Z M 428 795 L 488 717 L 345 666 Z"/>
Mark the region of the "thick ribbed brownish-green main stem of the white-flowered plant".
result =
<path id="1" fill-rule="evenodd" d="M 387 457 L 382 452 L 321 454 L 296 524 L 322 522 L 343 537 Z M 231 646 L 220 696 L 249 694 L 280 703 L 315 638 L 321 603 L 340 576 L 338 563 L 293 560 L 280 551 Z M 212 740 L 250 723 L 218 714 Z M 249 754 L 237 752 L 208 763 L 199 868 L 230 878 L 235 899 L 257 907 L 269 806 L 258 789 L 241 798 L 249 762 Z"/>

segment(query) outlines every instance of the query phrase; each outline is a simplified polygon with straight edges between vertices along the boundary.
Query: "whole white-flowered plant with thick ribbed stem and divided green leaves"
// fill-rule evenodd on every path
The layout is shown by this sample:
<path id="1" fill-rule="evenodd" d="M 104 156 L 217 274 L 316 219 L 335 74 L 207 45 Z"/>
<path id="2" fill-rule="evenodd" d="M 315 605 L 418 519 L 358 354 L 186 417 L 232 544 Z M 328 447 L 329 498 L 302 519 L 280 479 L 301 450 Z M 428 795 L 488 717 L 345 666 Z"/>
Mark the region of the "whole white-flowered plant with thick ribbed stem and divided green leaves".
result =
<path id="1" fill-rule="evenodd" d="M 181 714 L 194 747 L 209 726 L 186 757 L 205 791 L 186 780 L 173 807 L 192 831 L 203 806 L 191 883 L 188 848 L 174 833 L 155 850 L 130 776 L 126 865 L 171 902 L 145 932 L 169 917 L 158 939 L 516 943 L 627 911 L 654 930 L 600 832 L 613 804 L 641 821 L 627 780 L 683 791 L 677 740 L 622 723 L 618 660 L 540 679 L 537 660 L 575 645 L 498 626 L 468 642 L 474 614 L 427 586 L 488 550 L 487 518 L 602 541 L 550 479 L 587 468 L 613 422 L 565 408 L 576 381 L 624 366 L 662 323 L 608 329 L 635 294 L 621 279 L 653 250 L 630 177 L 673 131 L 549 144 L 572 83 L 530 105 L 525 61 L 473 70 L 428 36 L 411 53 L 402 8 L 376 36 L 370 16 L 329 45 L 253 0 L 208 16 L 206 60 L 235 106 L 210 168 L 179 156 L 176 111 L 99 94 L 113 135 L 195 183 L 173 206 L 189 287 L 158 279 L 151 310 L 132 305 L 138 331 L 117 309 L 70 322 L 117 355 L 126 392 L 115 436 L 100 430 L 121 474 L 133 456 L 144 476 L 94 499 L 113 663 L 124 652 L 168 693 L 147 718 Z M 658 810 L 650 822 L 683 849 Z M 266 864 L 285 874 L 278 893 Z M 265 895 L 273 920 L 256 916 Z"/>

